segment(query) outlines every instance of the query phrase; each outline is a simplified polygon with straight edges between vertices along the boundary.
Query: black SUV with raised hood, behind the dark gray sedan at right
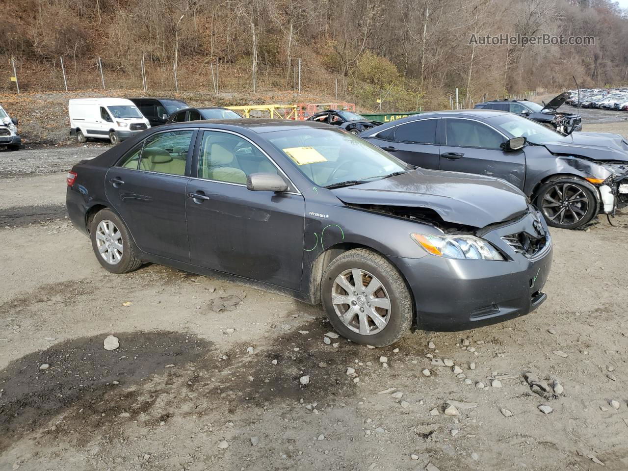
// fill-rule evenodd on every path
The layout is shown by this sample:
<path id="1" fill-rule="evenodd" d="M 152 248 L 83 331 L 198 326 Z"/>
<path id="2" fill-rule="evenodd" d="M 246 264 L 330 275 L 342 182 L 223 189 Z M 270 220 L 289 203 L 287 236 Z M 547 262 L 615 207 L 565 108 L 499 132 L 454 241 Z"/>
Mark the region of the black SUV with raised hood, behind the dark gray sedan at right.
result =
<path id="1" fill-rule="evenodd" d="M 558 108 L 570 97 L 569 92 L 561 93 L 543 106 L 529 100 L 494 100 L 475 105 L 476 109 L 496 109 L 522 114 L 545 126 L 556 129 L 559 133 L 571 134 L 582 131 L 582 118 L 577 114 L 558 112 Z"/>

